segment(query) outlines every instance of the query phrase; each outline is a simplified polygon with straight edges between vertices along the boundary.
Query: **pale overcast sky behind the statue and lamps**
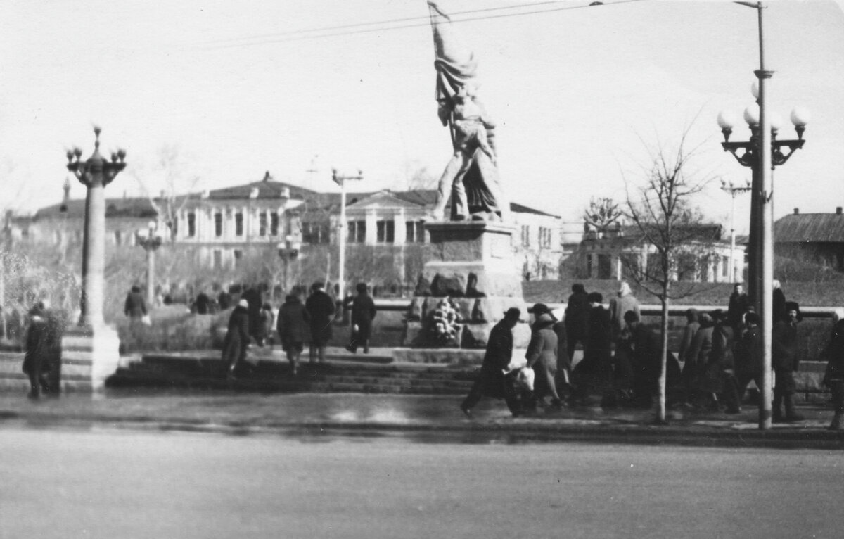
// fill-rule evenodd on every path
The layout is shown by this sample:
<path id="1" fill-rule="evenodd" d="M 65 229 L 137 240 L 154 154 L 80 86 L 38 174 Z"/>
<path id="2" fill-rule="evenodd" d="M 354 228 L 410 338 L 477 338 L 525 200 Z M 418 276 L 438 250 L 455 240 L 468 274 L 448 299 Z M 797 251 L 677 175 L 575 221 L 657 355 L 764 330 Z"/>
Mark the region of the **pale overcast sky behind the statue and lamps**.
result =
<path id="1" fill-rule="evenodd" d="M 623 198 L 647 147 L 670 147 L 689 126 L 701 175 L 750 176 L 721 150 L 715 118 L 753 102 L 756 10 L 615 2 L 440 2 L 450 13 L 477 11 L 458 30 L 479 58 L 511 199 L 565 221 L 579 221 L 592 196 Z M 805 148 L 776 170 L 776 216 L 834 211 L 844 205 L 844 14 L 832 0 L 767 5 L 766 67 L 775 71 L 771 109 L 786 118 L 782 137 L 793 138 L 794 106 L 812 114 Z M 360 190 L 401 188 L 425 166 L 438 176 L 451 143 L 436 117 L 433 55 L 425 0 L 6 0 L 0 205 L 57 203 L 64 152 L 78 145 L 89 155 L 94 123 L 104 149 L 128 152 L 111 197 L 140 194 L 136 177 L 165 188 L 156 165 L 164 146 L 177 149 L 181 190 L 193 177 L 200 190 L 267 170 L 330 190 L 333 166 L 362 169 Z M 733 139 L 748 134 L 739 127 Z M 319 172 L 306 172 L 312 161 Z M 74 180 L 71 193 L 84 189 Z M 717 181 L 697 202 L 728 225 Z M 739 231 L 748 204 L 738 199 Z"/>

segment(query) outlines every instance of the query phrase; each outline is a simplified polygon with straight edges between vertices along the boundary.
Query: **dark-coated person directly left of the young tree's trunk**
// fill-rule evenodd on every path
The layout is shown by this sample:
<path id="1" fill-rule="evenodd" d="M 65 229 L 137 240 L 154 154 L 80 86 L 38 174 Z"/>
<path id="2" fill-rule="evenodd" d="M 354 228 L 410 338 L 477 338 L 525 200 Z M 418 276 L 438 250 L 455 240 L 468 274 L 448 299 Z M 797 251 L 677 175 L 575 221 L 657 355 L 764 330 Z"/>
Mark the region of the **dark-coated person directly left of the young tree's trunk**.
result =
<path id="1" fill-rule="evenodd" d="M 657 332 L 641 323 L 635 311 L 624 314 L 630 331 L 633 400 L 631 404 L 649 408 L 657 393 L 657 379 L 663 366 L 663 343 Z"/>

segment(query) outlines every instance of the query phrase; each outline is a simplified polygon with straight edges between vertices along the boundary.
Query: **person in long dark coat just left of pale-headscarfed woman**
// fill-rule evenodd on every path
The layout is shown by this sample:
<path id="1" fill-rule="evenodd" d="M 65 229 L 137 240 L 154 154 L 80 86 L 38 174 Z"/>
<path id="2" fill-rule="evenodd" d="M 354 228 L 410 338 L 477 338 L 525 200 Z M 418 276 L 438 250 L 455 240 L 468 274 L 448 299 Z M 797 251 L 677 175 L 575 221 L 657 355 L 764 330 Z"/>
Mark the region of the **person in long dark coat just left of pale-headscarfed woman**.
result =
<path id="1" fill-rule="evenodd" d="M 589 293 L 586 343 L 583 359 L 575 367 L 576 392 L 572 404 L 585 405 L 591 392 L 602 395 L 602 406 L 611 406 L 613 393 L 612 337 L 609 311 L 603 308 L 603 296 Z"/>

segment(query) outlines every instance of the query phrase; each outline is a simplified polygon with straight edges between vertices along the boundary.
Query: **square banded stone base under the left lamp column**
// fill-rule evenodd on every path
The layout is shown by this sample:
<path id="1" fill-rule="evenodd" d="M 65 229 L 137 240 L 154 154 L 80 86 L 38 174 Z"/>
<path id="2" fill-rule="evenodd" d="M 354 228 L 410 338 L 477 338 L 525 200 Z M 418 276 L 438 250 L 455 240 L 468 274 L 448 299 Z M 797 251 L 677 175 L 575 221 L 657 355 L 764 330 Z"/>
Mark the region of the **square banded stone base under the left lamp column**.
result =
<path id="1" fill-rule="evenodd" d="M 119 363 L 120 338 L 111 326 L 73 326 L 62 335 L 62 389 L 103 389 Z"/>

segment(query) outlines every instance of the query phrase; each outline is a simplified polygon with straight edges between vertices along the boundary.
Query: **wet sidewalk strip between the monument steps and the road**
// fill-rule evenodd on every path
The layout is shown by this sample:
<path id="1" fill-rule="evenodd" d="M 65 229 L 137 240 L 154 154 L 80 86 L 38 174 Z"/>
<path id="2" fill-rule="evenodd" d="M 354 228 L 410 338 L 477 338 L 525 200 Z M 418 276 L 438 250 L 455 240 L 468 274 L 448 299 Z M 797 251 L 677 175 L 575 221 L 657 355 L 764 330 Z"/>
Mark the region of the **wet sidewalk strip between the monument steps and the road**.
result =
<path id="1" fill-rule="evenodd" d="M 844 432 L 825 429 L 831 411 L 803 406 L 806 421 L 760 431 L 757 411 L 653 412 L 599 407 L 511 418 L 503 401 L 482 400 L 473 418 L 454 396 L 249 394 L 229 391 L 109 389 L 30 401 L 0 394 L 0 427 L 115 428 L 293 437 L 396 437 L 457 443 L 590 442 L 722 447 L 844 449 Z"/>

